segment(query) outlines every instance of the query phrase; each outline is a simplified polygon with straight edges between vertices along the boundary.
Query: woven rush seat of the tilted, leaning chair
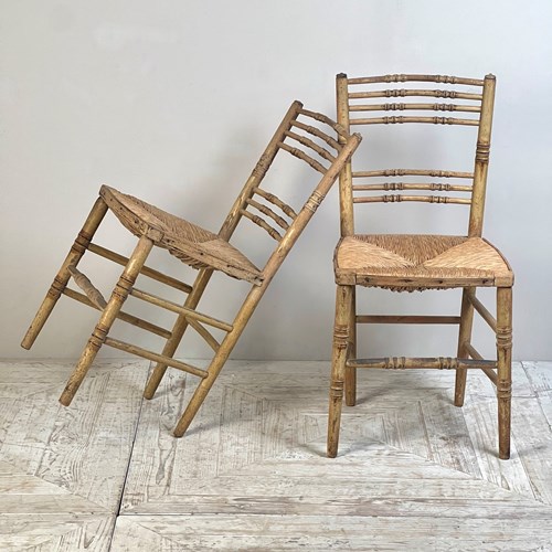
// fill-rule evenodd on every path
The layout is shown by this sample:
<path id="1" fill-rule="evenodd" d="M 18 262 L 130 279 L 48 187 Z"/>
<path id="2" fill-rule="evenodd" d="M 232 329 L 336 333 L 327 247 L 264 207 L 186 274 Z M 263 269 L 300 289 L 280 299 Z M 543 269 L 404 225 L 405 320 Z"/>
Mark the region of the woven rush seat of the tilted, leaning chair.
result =
<path id="1" fill-rule="evenodd" d="M 132 234 L 141 236 L 146 227 L 159 231 L 161 237 L 156 244 L 185 264 L 194 268 L 215 266 L 234 278 L 262 283 L 261 270 L 216 234 L 108 185 L 100 188 L 99 195 Z"/>

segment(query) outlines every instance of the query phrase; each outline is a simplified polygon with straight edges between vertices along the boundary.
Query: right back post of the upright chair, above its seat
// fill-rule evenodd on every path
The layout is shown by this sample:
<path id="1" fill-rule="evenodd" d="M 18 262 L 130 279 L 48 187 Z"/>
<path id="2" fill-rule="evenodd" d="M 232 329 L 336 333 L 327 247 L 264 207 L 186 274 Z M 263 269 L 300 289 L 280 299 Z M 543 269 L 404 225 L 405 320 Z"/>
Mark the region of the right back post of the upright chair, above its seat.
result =
<path id="1" fill-rule="evenodd" d="M 469 211 L 469 237 L 480 237 L 485 211 L 487 172 L 489 168 L 490 136 L 492 128 L 492 109 L 495 106 L 495 75 L 486 75 L 481 102 L 481 116 L 477 135 L 476 160 L 474 170 L 474 191 Z"/>

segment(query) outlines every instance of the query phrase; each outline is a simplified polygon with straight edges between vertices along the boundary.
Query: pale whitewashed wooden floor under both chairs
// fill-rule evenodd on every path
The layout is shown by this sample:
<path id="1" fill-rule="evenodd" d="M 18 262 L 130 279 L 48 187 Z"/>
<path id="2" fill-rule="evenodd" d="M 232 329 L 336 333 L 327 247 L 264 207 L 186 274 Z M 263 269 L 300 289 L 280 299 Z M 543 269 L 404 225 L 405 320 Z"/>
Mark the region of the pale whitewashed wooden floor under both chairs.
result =
<path id="1" fill-rule="evenodd" d="M 512 458 L 482 374 L 360 374 L 325 457 L 325 362 L 226 365 L 189 433 L 197 379 L 142 401 L 142 361 L 0 364 L 0 550 L 552 550 L 552 363 L 514 367 Z"/>

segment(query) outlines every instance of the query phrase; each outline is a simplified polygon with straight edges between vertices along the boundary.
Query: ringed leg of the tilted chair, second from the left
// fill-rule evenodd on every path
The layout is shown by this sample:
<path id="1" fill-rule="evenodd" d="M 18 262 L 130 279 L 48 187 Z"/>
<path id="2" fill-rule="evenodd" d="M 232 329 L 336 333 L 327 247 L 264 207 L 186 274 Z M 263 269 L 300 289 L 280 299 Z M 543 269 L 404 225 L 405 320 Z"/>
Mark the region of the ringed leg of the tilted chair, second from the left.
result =
<path id="1" fill-rule="evenodd" d="M 128 294 L 134 286 L 138 274 L 146 263 L 146 259 L 153 246 L 153 242 L 147 237 L 140 237 L 138 245 L 136 246 L 132 255 L 128 259 L 123 274 L 120 275 L 115 289 L 113 290 L 112 297 L 107 302 L 106 308 L 102 312 L 102 317 L 99 318 L 96 328 L 94 329 L 88 342 L 81 354 L 81 359 L 78 360 L 75 370 L 71 374 L 67 384 L 65 385 L 65 390 L 60 396 L 60 402 L 64 406 L 68 406 L 71 401 L 75 396 L 81 383 L 83 382 L 86 372 L 88 371 L 92 362 L 96 358 L 97 352 L 104 344 L 107 333 L 112 328 L 113 322 L 117 318 L 123 304 L 128 297 Z"/>

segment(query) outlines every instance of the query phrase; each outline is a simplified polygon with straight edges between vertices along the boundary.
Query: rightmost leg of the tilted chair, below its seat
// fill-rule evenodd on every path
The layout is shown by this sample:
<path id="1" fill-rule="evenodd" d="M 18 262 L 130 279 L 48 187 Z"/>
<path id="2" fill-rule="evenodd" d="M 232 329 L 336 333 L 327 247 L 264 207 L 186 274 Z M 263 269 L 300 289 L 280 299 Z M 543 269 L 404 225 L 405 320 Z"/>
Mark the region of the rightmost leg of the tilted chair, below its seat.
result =
<path id="1" fill-rule="evenodd" d="M 195 414 L 198 413 L 200 406 L 203 404 L 203 401 L 209 394 L 209 391 L 213 386 L 216 378 L 221 373 L 224 363 L 234 349 L 234 346 L 240 339 L 240 336 L 242 335 L 245 326 L 247 325 L 269 283 L 270 278 L 266 279 L 262 286 L 253 286 L 252 290 L 247 295 L 244 304 L 242 305 L 234 319 L 233 329 L 229 333 L 226 333 L 226 337 L 223 339 L 221 347 L 219 348 L 219 351 L 216 351 L 216 354 L 213 357 L 213 360 L 208 368 L 209 375 L 201 380 L 184 413 L 182 414 L 182 417 L 178 422 L 177 427 L 173 432 L 174 437 L 182 437 L 182 435 L 184 435 L 185 431 L 192 423 Z"/>

